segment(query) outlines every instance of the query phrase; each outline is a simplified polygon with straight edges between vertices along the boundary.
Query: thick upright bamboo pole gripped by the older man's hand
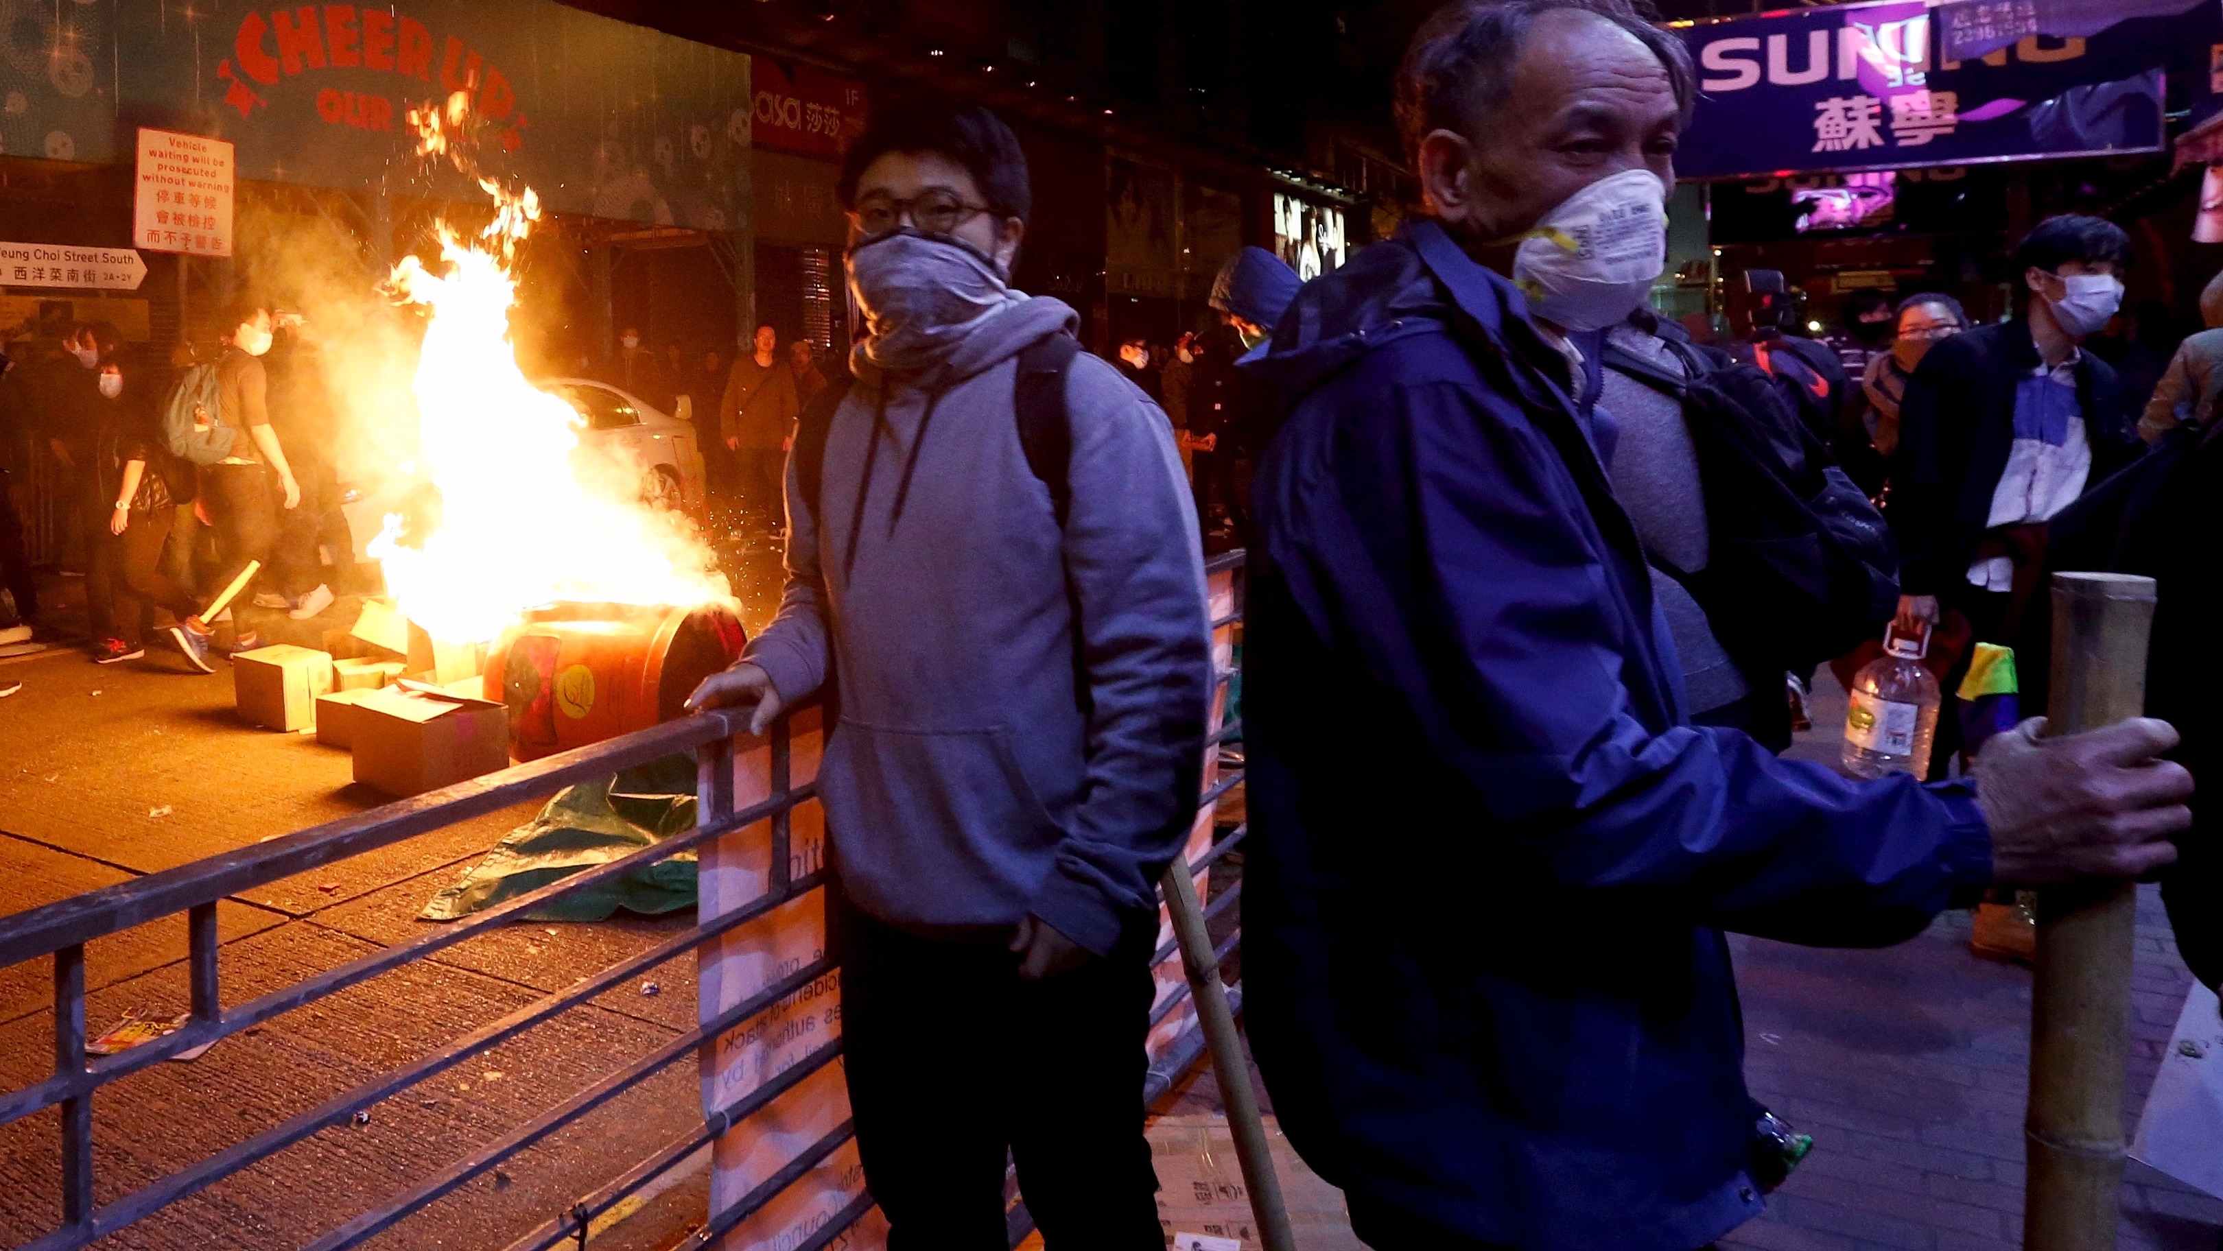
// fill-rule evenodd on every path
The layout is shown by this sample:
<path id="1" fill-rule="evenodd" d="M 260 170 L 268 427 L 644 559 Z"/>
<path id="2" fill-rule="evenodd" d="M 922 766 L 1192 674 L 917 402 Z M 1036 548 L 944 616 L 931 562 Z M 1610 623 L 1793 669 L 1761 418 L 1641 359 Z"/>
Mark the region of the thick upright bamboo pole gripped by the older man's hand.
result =
<path id="1" fill-rule="evenodd" d="M 2152 578 L 2054 573 L 2047 735 L 2145 711 L 2152 624 Z M 2087 880 L 2038 891 L 2023 1131 L 2025 1251 L 2114 1251 L 2136 904 L 2134 882 Z"/>

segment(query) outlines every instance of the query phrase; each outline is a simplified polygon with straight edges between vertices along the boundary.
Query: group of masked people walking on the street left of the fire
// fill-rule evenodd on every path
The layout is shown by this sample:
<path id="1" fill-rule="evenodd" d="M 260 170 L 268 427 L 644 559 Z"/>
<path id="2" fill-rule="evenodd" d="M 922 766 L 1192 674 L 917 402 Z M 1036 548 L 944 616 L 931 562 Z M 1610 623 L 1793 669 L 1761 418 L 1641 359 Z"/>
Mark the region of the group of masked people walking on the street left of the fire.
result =
<path id="1" fill-rule="evenodd" d="M 107 322 L 20 340 L 0 358 L 0 642 L 69 638 L 27 558 L 33 458 L 44 460 L 58 562 L 84 576 L 100 664 L 140 658 L 151 635 L 169 633 L 193 669 L 213 673 L 216 622 L 200 611 L 242 578 L 247 602 L 296 620 L 351 589 L 313 329 L 251 300 L 218 324 L 218 342 L 185 342 L 169 360 Z M 258 642 L 240 629 L 231 647 Z"/>

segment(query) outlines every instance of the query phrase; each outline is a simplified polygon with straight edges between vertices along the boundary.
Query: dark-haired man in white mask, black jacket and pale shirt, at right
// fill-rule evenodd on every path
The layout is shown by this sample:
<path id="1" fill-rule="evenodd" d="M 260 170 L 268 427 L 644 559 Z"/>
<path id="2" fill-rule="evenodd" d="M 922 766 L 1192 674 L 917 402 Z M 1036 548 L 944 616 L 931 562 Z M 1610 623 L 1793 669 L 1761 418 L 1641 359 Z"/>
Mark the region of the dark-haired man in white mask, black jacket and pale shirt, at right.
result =
<path id="1" fill-rule="evenodd" d="M 2114 369 L 2081 347 L 2123 307 L 2127 262 L 2114 222 L 2045 218 L 2014 251 L 2021 316 L 1934 342 L 1907 378 L 1885 504 L 1903 633 L 1958 613 L 1974 642 L 2012 647 L 2045 611 L 2045 522 L 2143 451 Z M 1941 718 L 1932 773 L 1958 747 Z"/>

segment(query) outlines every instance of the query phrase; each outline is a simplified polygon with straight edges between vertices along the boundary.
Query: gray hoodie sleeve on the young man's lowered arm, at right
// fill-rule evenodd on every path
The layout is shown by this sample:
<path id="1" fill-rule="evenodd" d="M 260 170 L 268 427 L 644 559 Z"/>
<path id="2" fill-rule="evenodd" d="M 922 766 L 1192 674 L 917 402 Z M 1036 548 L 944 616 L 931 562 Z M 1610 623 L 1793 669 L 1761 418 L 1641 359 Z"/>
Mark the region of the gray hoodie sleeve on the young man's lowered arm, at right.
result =
<path id="1" fill-rule="evenodd" d="M 1156 909 L 1156 880 L 1196 815 L 1212 638 L 1196 507 L 1165 416 L 1094 356 L 1074 358 L 1067 409 L 1065 569 L 1089 687 L 1087 775 L 1031 911 L 1103 955 L 1123 913 Z"/>

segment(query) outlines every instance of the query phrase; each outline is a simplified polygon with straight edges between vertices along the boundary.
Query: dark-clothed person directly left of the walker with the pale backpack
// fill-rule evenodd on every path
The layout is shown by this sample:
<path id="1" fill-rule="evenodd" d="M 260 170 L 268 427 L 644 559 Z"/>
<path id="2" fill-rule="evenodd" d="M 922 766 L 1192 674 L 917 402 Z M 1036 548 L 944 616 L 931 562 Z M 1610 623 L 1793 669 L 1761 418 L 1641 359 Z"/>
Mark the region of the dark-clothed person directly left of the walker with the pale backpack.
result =
<path id="1" fill-rule="evenodd" d="M 87 538 L 91 569 L 84 609 L 93 629 L 93 660 L 116 664 L 147 655 L 151 609 L 180 620 L 200 611 L 193 593 L 160 571 L 162 542 L 178 513 L 169 493 L 169 456 L 153 416 L 153 393 L 138 369 L 116 356 L 100 362 L 91 407 L 91 478 L 102 524 Z"/>

